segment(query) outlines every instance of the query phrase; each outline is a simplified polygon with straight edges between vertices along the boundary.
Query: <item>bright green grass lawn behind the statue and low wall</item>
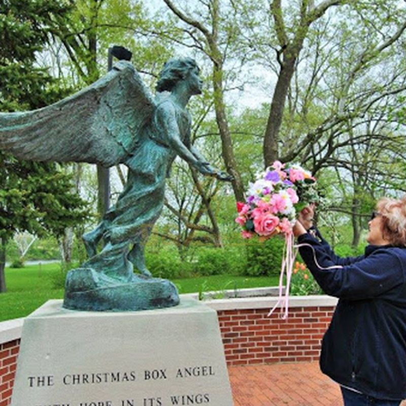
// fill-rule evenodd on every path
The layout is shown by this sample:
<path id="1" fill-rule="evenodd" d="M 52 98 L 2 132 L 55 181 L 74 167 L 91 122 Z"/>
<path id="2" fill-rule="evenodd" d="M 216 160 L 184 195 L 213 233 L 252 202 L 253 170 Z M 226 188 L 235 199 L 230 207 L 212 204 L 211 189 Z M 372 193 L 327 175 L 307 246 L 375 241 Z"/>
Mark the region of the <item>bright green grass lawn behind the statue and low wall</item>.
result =
<path id="1" fill-rule="evenodd" d="M 49 299 L 63 298 L 63 289 L 54 287 L 55 279 L 61 280 L 59 263 L 6 268 L 7 292 L 0 294 L 0 321 L 25 317 Z M 192 293 L 276 286 L 279 277 L 214 275 L 173 282 L 180 293 Z"/>

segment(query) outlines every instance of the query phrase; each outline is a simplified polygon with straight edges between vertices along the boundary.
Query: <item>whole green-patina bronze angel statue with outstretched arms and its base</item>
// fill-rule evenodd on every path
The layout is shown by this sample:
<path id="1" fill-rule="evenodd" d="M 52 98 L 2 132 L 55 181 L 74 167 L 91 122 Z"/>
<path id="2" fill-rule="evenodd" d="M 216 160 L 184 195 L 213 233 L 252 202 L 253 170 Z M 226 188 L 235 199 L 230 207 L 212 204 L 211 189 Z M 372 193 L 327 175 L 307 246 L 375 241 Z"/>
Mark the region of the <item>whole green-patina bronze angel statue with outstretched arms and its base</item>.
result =
<path id="1" fill-rule="evenodd" d="M 0 149 L 18 158 L 128 167 L 116 205 L 83 235 L 89 259 L 67 275 L 64 307 L 141 310 L 179 303 L 170 281 L 151 277 L 144 246 L 160 215 L 165 178 L 177 155 L 202 174 L 231 180 L 190 142 L 186 105 L 201 86 L 193 59 L 171 59 L 153 98 L 133 65 L 122 60 L 105 77 L 58 103 L 0 113 Z M 105 245 L 97 252 L 101 239 Z"/>

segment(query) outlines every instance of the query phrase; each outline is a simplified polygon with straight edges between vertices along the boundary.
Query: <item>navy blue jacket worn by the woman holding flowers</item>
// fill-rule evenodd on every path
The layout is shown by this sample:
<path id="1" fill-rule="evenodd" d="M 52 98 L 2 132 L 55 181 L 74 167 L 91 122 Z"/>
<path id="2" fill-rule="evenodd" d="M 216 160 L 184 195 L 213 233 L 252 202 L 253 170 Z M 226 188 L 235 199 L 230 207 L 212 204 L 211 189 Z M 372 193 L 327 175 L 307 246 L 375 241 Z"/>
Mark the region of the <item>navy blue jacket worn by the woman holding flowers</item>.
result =
<path id="1" fill-rule="evenodd" d="M 320 237 L 320 235 L 319 235 Z M 379 399 L 406 398 L 406 248 L 367 246 L 340 258 L 309 233 L 299 248 L 325 293 L 339 297 L 324 334 L 320 367 L 335 382 Z M 320 269 L 342 265 L 342 268 Z"/>

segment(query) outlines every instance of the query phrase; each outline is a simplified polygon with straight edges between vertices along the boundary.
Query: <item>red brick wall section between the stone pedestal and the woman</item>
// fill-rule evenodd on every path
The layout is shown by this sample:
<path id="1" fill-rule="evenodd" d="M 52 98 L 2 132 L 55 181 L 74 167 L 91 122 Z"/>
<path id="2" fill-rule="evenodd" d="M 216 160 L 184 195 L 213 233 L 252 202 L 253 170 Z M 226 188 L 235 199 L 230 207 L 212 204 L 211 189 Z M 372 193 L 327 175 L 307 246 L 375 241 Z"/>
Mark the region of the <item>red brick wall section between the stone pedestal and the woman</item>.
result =
<path id="1" fill-rule="evenodd" d="M 228 365 L 315 361 L 334 307 L 290 308 L 287 320 L 267 309 L 218 311 Z"/>

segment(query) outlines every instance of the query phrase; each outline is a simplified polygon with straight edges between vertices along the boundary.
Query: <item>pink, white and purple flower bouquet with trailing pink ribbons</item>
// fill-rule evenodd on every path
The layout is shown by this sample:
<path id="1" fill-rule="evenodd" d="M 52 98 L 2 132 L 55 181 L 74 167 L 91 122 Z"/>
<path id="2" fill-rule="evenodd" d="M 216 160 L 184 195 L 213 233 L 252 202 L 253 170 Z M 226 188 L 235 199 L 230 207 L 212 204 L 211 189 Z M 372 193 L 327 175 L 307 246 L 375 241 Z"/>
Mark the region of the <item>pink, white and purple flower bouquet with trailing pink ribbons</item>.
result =
<path id="1" fill-rule="evenodd" d="M 289 284 L 295 253 L 293 253 L 292 228 L 296 213 L 317 202 L 316 179 L 300 165 L 283 164 L 275 161 L 266 168 L 254 183 L 250 183 L 245 202 L 237 202 L 238 217 L 235 222 L 243 228 L 245 239 L 258 236 L 260 240 L 282 234 L 285 237 L 285 250 L 280 277 L 280 298 L 271 314 L 280 302 L 283 302 L 283 278 L 286 270 L 285 315 L 287 317 Z"/>

